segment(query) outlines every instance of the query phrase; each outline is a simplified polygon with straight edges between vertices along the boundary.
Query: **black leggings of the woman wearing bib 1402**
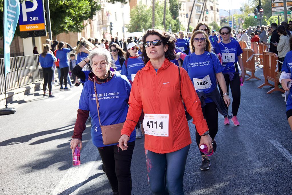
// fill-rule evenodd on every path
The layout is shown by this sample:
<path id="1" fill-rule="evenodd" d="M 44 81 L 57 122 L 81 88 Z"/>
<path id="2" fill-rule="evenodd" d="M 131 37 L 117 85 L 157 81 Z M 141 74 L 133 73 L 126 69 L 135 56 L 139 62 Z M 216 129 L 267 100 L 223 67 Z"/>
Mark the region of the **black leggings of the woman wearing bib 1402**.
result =
<path id="1" fill-rule="evenodd" d="M 212 139 L 214 139 L 218 132 L 217 105 L 214 102 L 206 103 L 206 106 L 202 108 L 202 112 L 203 112 L 204 118 L 206 119 L 207 125 L 209 127 L 209 135 Z M 197 131 L 196 131 L 196 141 L 199 147 L 201 136 L 199 135 Z M 204 155 L 204 153 L 201 152 L 201 155 Z"/>

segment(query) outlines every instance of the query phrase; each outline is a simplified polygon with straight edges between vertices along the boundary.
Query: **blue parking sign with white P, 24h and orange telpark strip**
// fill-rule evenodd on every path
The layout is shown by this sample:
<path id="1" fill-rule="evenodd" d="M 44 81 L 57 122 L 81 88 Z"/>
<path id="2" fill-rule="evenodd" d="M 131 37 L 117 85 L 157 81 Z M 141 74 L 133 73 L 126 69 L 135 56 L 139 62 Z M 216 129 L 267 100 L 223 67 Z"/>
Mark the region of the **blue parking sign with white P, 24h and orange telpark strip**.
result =
<path id="1" fill-rule="evenodd" d="M 27 0 L 20 5 L 19 29 L 20 32 L 46 29 L 43 0 Z"/>

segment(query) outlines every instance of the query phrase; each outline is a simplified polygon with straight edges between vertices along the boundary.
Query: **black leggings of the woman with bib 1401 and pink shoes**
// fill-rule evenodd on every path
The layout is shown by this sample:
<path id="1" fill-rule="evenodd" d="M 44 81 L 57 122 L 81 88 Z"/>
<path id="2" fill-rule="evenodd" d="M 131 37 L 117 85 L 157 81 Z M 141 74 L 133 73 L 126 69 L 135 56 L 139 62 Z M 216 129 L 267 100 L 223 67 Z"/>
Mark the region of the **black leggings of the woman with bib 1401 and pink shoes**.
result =
<path id="1" fill-rule="evenodd" d="M 225 82 L 226 82 L 227 93 L 229 93 L 229 86 L 230 86 L 230 89 L 231 89 L 231 94 L 232 94 L 232 98 L 233 98 L 233 101 L 232 101 L 232 114 L 233 114 L 233 116 L 236 116 L 237 112 L 238 112 L 239 104 L 240 104 L 240 79 L 239 79 L 239 74 L 235 74 L 232 81 L 230 81 L 229 75 L 224 75 L 224 78 L 225 78 Z M 222 89 L 221 89 L 219 84 L 218 84 L 218 86 L 219 86 L 219 90 L 220 90 L 220 95 L 221 95 L 221 97 L 223 97 Z M 226 104 L 224 104 L 224 105 L 225 105 L 225 108 L 228 111 L 229 107 L 227 107 Z"/>

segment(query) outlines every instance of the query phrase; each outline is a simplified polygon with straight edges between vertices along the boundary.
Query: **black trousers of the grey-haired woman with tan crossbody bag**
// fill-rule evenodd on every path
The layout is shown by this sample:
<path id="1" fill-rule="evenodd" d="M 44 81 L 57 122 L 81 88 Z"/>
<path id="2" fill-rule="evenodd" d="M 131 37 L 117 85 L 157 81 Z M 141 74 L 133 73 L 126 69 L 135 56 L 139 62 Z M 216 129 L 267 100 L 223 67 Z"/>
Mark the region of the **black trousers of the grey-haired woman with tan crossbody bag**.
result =
<path id="1" fill-rule="evenodd" d="M 112 191 L 119 195 L 131 195 L 131 161 L 135 141 L 128 142 L 128 148 L 122 151 L 117 145 L 98 148 L 105 174 L 112 186 Z"/>

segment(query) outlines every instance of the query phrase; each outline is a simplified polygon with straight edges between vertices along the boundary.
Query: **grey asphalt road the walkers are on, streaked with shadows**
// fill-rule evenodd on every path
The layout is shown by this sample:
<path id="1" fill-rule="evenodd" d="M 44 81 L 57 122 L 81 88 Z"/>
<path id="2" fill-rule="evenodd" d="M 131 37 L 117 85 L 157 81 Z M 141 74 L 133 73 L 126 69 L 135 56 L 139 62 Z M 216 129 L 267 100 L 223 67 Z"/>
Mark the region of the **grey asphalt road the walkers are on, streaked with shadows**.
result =
<path id="1" fill-rule="evenodd" d="M 266 94 L 262 80 L 241 87 L 239 127 L 224 126 L 219 115 L 217 151 L 211 167 L 201 171 L 195 128 L 188 154 L 185 194 L 292 194 L 292 132 L 281 92 Z M 13 115 L 0 116 L 1 194 L 112 194 L 86 124 L 81 165 L 72 166 L 69 148 L 82 86 L 54 88 L 55 98 L 41 91 L 14 102 Z M 231 111 L 230 111 L 231 112 Z M 147 182 L 144 139 L 136 141 L 132 160 L 133 195 L 152 194 Z"/>

